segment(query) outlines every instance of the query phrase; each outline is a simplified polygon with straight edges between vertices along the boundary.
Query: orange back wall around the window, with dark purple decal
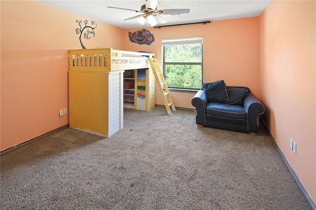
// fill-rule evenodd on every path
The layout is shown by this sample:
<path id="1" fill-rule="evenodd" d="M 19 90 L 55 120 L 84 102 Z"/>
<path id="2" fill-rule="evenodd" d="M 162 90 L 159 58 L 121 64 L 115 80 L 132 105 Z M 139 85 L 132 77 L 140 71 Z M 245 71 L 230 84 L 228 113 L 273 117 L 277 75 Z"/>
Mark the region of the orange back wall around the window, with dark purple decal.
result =
<path id="1" fill-rule="evenodd" d="M 128 32 L 137 30 L 126 30 L 126 50 L 154 52 L 160 67 L 162 38 L 203 36 L 203 81 L 224 79 L 227 85 L 249 87 L 252 93 L 261 98 L 259 17 L 214 21 L 206 25 L 149 28 L 155 36 L 151 45 L 129 41 Z M 171 95 L 175 106 L 194 108 L 191 100 L 195 93 L 171 92 Z M 157 92 L 156 104 L 163 105 Z"/>

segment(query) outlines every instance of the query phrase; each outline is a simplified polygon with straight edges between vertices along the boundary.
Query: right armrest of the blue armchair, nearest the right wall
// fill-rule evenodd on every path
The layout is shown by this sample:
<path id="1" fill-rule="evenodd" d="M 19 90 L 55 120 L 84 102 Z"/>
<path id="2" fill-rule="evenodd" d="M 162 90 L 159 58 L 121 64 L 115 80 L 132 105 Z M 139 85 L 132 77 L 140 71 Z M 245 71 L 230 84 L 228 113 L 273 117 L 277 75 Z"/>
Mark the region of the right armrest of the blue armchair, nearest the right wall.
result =
<path id="1" fill-rule="evenodd" d="M 265 111 L 264 105 L 252 93 L 248 93 L 243 101 L 243 107 L 247 112 L 248 132 L 258 134 L 259 114 Z"/>

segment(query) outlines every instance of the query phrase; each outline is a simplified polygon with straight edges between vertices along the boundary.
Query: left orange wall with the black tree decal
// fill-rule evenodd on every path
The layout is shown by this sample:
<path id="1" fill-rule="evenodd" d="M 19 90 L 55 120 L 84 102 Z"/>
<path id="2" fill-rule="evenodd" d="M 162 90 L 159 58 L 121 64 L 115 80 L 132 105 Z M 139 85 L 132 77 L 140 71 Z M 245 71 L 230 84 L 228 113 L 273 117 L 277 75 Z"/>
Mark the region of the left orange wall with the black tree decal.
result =
<path id="1" fill-rule="evenodd" d="M 38 1 L 1 0 L 0 150 L 67 125 L 68 49 L 80 49 L 76 20 Z M 124 30 L 98 22 L 86 48 L 124 48 Z"/>

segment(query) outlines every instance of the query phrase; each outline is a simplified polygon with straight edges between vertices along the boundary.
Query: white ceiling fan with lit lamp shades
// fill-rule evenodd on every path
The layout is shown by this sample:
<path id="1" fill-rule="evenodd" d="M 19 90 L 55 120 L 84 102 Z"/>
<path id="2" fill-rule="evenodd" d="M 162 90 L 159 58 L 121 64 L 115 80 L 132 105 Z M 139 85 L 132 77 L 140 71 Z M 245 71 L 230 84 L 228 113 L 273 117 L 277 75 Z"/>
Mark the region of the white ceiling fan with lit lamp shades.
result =
<path id="1" fill-rule="evenodd" d="M 123 9 L 128 11 L 133 11 L 140 13 L 139 15 L 124 19 L 124 20 L 132 20 L 135 18 L 140 18 L 138 21 L 144 25 L 146 20 L 148 19 L 148 23 L 151 26 L 155 26 L 158 23 L 166 23 L 167 21 L 161 15 L 181 15 L 185 13 L 189 13 L 190 9 L 157 9 L 158 0 L 146 0 L 146 4 L 140 7 L 140 10 L 134 9 L 125 9 L 120 7 L 108 6 L 108 8 L 114 9 Z"/>

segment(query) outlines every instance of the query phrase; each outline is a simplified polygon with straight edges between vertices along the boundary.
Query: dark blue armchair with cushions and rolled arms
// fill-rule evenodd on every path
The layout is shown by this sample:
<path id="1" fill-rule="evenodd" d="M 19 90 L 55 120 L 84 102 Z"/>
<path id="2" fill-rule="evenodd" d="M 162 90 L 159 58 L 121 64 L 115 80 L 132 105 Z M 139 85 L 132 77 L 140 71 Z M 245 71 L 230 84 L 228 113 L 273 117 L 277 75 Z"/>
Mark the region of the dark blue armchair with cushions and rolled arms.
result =
<path id="1" fill-rule="evenodd" d="M 218 127 L 253 135 L 259 133 L 259 114 L 265 110 L 249 88 L 226 86 L 223 80 L 203 83 L 191 103 L 195 106 L 198 127 Z"/>

